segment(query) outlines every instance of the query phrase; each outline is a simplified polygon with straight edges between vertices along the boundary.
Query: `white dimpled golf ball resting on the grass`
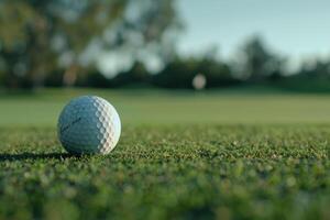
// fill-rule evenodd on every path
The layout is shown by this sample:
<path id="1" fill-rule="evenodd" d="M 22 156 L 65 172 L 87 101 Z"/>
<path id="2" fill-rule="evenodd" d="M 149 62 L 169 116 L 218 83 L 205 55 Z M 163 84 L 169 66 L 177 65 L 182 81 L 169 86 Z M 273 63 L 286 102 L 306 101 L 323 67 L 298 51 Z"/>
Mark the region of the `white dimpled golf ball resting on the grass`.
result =
<path id="1" fill-rule="evenodd" d="M 105 99 L 82 96 L 73 99 L 59 114 L 57 134 L 73 154 L 108 154 L 119 141 L 121 122 Z"/>

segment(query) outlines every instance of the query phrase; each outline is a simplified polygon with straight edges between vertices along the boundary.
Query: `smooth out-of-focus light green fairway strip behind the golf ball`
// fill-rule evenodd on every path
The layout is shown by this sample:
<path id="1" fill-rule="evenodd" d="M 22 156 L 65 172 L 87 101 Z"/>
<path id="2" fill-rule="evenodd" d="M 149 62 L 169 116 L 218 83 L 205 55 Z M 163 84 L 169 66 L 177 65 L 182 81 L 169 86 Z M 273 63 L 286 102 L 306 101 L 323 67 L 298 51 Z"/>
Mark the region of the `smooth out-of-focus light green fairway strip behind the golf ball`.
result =
<path id="1" fill-rule="evenodd" d="M 329 95 L 243 89 L 208 92 L 166 90 L 40 90 L 0 95 L 0 125 L 54 127 L 73 98 L 97 95 L 113 103 L 123 124 L 330 123 Z"/>

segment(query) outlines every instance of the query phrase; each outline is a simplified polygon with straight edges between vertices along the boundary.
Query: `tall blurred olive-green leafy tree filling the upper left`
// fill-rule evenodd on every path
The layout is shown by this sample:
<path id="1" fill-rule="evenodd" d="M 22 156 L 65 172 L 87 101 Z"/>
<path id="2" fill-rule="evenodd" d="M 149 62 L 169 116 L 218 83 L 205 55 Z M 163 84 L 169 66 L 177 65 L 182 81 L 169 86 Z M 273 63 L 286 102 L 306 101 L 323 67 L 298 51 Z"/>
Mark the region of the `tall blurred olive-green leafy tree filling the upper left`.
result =
<path id="1" fill-rule="evenodd" d="M 2 0 L 0 57 L 6 63 L 7 85 L 43 85 L 46 75 L 56 73 L 58 65 L 65 68 L 64 82 L 74 85 L 78 73 L 96 65 L 84 59 L 95 44 L 98 52 L 127 46 L 131 53 L 135 47 L 160 45 L 165 32 L 177 26 L 173 2 Z"/>

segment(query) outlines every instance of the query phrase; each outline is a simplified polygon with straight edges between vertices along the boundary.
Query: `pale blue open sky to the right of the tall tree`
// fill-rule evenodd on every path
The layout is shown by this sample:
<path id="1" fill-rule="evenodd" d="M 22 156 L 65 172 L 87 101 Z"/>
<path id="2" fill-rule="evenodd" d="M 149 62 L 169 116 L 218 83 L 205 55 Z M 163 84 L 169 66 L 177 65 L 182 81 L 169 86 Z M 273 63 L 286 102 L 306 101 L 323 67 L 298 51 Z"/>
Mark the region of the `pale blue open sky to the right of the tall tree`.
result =
<path id="1" fill-rule="evenodd" d="M 178 0 L 186 30 L 179 37 L 185 55 L 218 47 L 233 58 L 255 34 L 290 57 L 293 66 L 309 57 L 330 57 L 329 0 Z"/>

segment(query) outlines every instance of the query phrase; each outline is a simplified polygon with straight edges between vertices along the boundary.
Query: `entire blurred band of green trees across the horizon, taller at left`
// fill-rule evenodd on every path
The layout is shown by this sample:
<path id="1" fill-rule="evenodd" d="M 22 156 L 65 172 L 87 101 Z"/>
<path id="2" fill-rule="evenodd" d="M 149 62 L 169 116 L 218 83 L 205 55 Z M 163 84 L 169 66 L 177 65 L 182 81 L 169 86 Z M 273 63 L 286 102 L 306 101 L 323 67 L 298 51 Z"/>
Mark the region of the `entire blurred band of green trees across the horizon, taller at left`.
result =
<path id="1" fill-rule="evenodd" d="M 289 73 L 286 58 L 258 36 L 231 62 L 213 51 L 183 57 L 176 52 L 183 29 L 175 0 L 1 0 L 0 87 L 194 88 L 198 76 L 207 88 L 330 91 L 330 61 Z M 127 61 L 111 76 L 99 67 L 109 52 Z"/>

